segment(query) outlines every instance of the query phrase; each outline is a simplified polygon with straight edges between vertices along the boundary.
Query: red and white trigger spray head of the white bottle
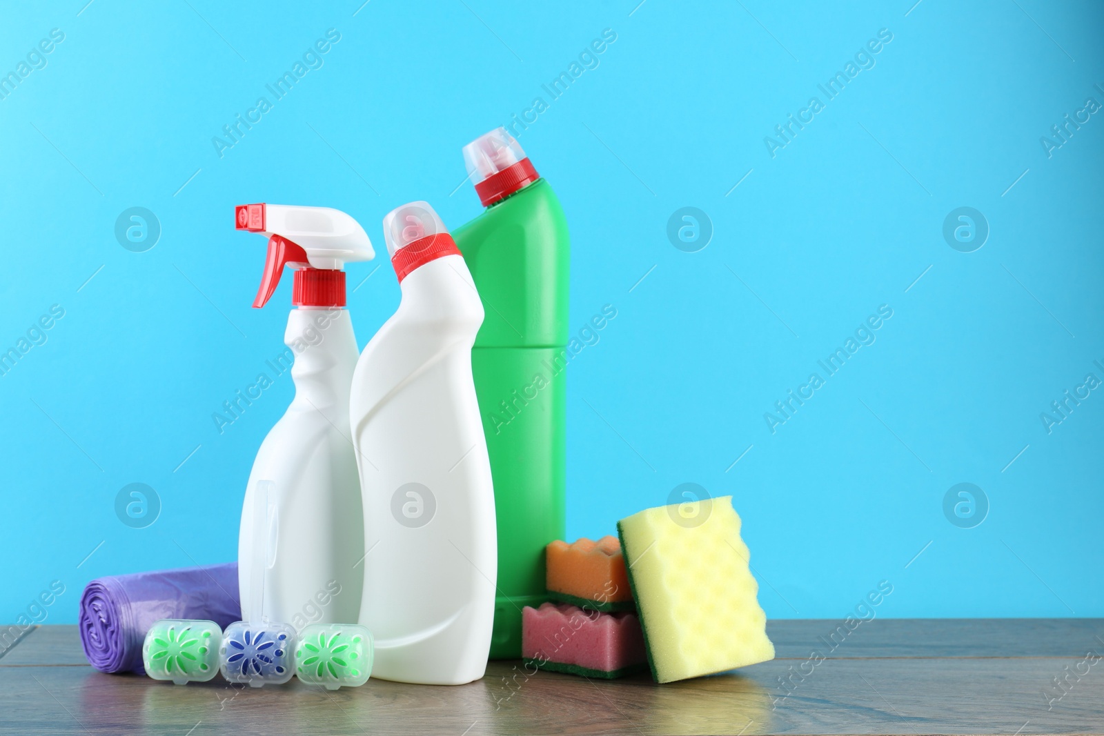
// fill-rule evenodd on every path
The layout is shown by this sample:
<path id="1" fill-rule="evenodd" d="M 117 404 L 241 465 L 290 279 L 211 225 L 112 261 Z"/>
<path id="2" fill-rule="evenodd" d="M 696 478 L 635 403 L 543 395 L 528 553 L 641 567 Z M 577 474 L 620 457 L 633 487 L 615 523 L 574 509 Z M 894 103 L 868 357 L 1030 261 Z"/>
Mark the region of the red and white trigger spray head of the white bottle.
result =
<path id="1" fill-rule="evenodd" d="M 268 235 L 268 255 L 261 288 L 253 301 L 264 307 L 279 285 L 284 266 L 295 269 L 293 302 L 299 307 L 343 307 L 344 271 L 350 260 L 375 257 L 364 228 L 348 214 L 330 207 L 286 204 L 242 204 L 234 226 Z"/>

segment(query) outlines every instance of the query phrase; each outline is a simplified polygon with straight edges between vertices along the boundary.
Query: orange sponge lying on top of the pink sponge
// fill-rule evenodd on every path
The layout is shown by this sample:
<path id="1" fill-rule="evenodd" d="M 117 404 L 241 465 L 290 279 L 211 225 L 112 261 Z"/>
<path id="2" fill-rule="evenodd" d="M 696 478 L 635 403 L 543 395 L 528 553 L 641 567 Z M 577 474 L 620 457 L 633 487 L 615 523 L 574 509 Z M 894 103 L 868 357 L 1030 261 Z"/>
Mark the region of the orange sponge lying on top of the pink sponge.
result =
<path id="1" fill-rule="evenodd" d="M 546 547 L 549 597 L 599 611 L 631 610 L 625 558 L 616 536 L 556 540 Z"/>

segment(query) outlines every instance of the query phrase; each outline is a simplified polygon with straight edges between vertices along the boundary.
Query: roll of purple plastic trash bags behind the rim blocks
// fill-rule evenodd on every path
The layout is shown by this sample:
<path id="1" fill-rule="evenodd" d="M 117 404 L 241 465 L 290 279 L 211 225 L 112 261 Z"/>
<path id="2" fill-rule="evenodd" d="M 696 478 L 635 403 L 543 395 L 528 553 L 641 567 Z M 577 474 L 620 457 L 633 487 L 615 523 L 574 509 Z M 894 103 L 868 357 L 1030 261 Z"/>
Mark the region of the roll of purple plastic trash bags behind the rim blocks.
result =
<path id="1" fill-rule="evenodd" d="M 81 596 L 81 644 L 100 672 L 144 672 L 146 632 L 162 618 L 210 619 L 222 628 L 242 619 L 237 563 L 110 575 Z"/>

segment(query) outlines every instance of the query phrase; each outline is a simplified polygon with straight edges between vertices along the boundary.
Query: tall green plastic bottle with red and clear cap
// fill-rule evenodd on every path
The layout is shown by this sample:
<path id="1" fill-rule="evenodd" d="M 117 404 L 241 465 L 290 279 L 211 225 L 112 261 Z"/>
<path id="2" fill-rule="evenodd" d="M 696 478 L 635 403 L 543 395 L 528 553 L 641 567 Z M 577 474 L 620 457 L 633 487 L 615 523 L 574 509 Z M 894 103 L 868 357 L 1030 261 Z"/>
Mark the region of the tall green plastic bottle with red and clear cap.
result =
<path id="1" fill-rule="evenodd" d="M 482 299 L 471 351 L 498 520 L 491 659 L 521 657 L 521 608 L 548 600 L 544 547 L 562 540 L 567 269 L 560 200 L 505 128 L 464 147 L 486 211 L 453 237 Z"/>

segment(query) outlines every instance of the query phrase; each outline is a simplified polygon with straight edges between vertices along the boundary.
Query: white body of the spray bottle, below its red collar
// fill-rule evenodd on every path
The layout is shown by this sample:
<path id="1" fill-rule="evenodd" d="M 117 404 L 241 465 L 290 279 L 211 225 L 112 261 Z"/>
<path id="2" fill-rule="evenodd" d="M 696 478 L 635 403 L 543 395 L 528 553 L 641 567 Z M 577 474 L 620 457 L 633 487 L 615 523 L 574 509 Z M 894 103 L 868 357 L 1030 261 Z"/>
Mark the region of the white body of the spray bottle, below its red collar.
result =
<path id="1" fill-rule="evenodd" d="M 300 308 L 288 317 L 285 343 L 295 398 L 265 437 L 253 463 L 238 535 L 242 618 L 353 623 L 360 612 L 364 554 L 360 481 L 349 433 L 349 390 L 357 340 L 349 312 Z M 251 600 L 255 559 L 253 494 L 272 481 L 269 538 L 261 540 L 269 568 L 263 608 Z M 275 498 L 272 498 L 275 497 Z"/>

